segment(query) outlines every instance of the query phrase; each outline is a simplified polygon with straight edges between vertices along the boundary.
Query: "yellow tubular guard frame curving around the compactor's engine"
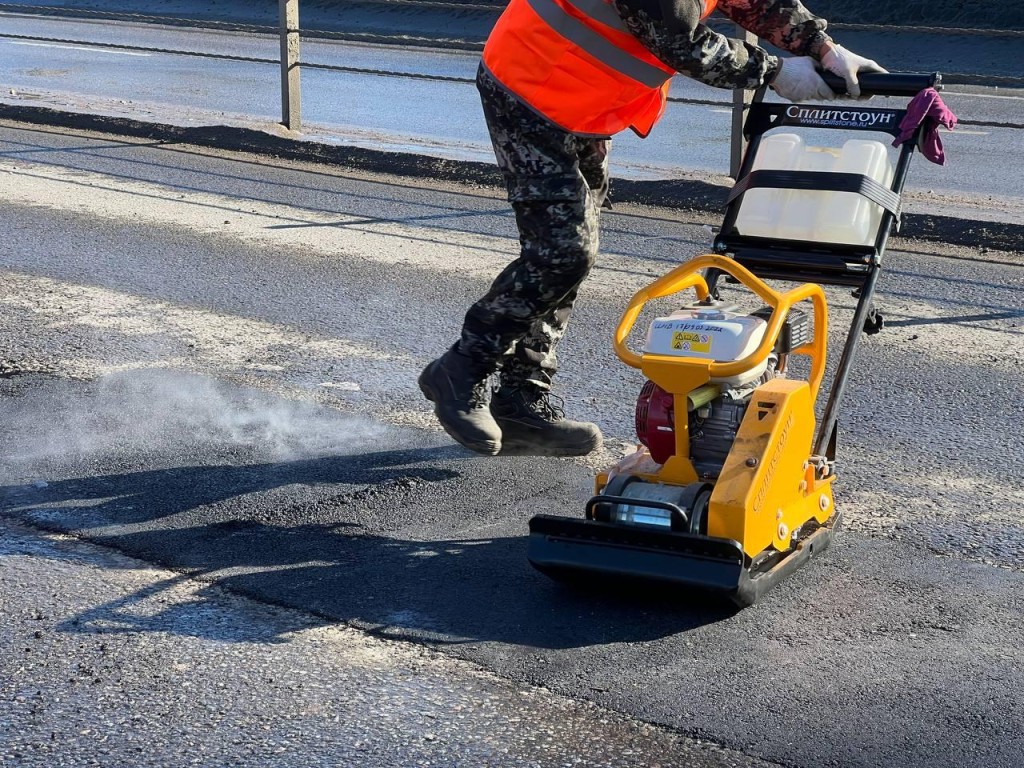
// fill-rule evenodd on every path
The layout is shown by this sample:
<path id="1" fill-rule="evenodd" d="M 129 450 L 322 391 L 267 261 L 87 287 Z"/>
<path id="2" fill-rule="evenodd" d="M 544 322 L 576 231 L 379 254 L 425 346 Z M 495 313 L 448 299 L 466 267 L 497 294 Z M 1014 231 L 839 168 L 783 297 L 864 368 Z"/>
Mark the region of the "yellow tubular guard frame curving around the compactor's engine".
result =
<path id="1" fill-rule="evenodd" d="M 792 291 L 781 294 L 772 289 L 768 284 L 758 278 L 746 267 L 736 263 L 734 260 L 716 254 L 706 254 L 697 256 L 695 259 L 687 261 L 681 266 L 677 266 L 672 271 L 654 281 L 652 284 L 637 292 L 630 301 L 623 318 L 615 329 L 615 354 L 627 366 L 636 369 L 643 369 L 643 357 L 637 354 L 626 344 L 633 326 L 636 325 L 637 317 L 644 305 L 651 299 L 659 299 L 666 296 L 685 291 L 687 288 L 694 288 L 697 297 L 701 300 L 708 297 L 708 284 L 703 276 L 697 271 L 699 269 L 718 269 L 727 274 L 731 274 L 739 283 L 749 288 L 761 297 L 764 302 L 771 307 L 771 317 L 768 319 L 768 328 L 762 337 L 758 348 L 745 357 L 738 360 L 709 361 L 702 358 L 697 359 L 701 364 L 708 364 L 712 377 L 729 377 L 750 371 L 755 366 L 761 364 L 771 353 L 775 346 L 775 340 L 782 331 L 782 324 L 790 313 L 791 307 L 797 302 L 810 299 L 814 305 L 814 338 L 813 340 L 796 351 L 811 352 L 811 371 L 808 382 L 811 386 L 811 397 L 815 399 L 818 387 L 825 373 L 825 342 L 828 338 L 828 317 L 825 309 L 825 295 L 821 287 L 814 283 L 807 283 Z"/>

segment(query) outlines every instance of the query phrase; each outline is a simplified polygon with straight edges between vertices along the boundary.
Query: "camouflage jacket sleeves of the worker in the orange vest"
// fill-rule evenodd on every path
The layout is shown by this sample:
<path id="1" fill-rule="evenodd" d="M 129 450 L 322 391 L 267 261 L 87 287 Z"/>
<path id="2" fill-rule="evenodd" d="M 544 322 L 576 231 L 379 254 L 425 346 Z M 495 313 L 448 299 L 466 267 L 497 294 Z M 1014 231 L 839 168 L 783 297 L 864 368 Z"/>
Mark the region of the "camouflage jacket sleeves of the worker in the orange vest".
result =
<path id="1" fill-rule="evenodd" d="M 719 88 L 758 88 L 778 71 L 763 48 L 720 35 L 700 20 L 702 0 L 612 0 L 627 29 L 667 66 Z M 817 54 L 825 23 L 799 0 L 720 0 L 751 32 L 800 54 Z"/>

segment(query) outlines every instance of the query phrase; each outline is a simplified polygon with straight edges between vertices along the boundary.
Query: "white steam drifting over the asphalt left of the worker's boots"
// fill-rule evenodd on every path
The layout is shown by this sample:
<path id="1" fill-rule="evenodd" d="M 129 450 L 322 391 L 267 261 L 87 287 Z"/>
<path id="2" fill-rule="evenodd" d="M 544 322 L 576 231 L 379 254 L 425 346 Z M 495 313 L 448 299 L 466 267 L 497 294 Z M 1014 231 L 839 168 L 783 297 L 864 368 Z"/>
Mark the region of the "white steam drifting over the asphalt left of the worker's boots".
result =
<path id="1" fill-rule="evenodd" d="M 14 463 L 118 454 L 292 461 L 351 454 L 385 427 L 312 403 L 215 379 L 162 370 L 103 377 L 87 389 L 65 382 L 5 398 L 12 429 L 2 453 Z"/>

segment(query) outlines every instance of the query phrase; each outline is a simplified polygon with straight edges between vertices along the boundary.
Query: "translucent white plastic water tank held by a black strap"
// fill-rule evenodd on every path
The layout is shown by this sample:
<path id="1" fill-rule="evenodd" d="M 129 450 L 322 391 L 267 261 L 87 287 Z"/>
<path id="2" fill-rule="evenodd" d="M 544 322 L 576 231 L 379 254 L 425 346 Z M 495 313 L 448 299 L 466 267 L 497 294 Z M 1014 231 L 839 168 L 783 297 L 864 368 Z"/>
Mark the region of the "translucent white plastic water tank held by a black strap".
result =
<path id="1" fill-rule="evenodd" d="M 810 146 L 795 133 L 765 137 L 753 170 L 861 173 L 884 186 L 892 183 L 889 152 L 881 141 L 850 139 L 840 148 Z M 855 193 L 755 188 L 739 207 L 740 234 L 871 245 L 883 209 Z"/>

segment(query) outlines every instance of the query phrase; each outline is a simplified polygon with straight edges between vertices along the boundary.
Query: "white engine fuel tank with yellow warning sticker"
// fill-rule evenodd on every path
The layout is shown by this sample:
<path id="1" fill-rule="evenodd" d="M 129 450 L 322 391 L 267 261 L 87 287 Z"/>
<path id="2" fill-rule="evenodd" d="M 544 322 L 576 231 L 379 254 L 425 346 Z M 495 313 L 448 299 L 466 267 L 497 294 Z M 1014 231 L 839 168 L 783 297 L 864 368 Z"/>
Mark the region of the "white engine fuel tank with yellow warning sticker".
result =
<path id="1" fill-rule="evenodd" d="M 688 307 L 666 317 L 656 317 L 647 329 L 643 351 L 645 354 L 731 362 L 757 349 L 767 328 L 768 324 L 761 317 L 736 314 L 720 307 Z M 767 360 L 738 376 L 712 381 L 740 386 L 761 376 L 766 367 Z"/>

